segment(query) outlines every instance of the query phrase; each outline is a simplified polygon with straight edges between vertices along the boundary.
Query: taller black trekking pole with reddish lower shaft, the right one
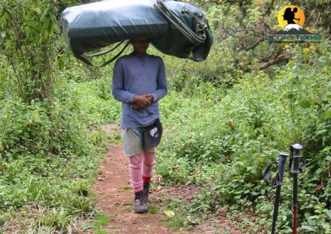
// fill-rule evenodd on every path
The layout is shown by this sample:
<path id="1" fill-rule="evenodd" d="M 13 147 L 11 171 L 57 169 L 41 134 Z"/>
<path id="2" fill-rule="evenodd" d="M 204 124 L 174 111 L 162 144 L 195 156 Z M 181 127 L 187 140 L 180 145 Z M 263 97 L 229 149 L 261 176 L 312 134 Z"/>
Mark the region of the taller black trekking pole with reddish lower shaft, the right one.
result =
<path id="1" fill-rule="evenodd" d="M 298 199 L 298 174 L 300 173 L 299 162 L 301 157 L 302 145 L 294 144 L 290 146 L 291 159 L 290 167 L 293 175 L 293 226 L 292 233 L 297 234 L 297 199 Z"/>

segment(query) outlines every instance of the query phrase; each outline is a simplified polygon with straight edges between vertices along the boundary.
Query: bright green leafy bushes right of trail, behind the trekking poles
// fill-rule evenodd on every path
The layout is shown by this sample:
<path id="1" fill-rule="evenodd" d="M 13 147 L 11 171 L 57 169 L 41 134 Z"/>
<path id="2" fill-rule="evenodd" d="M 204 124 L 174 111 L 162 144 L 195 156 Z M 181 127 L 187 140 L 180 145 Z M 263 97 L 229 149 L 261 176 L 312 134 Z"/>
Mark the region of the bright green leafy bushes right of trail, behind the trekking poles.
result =
<path id="1" fill-rule="evenodd" d="M 301 230 L 330 231 L 330 49 L 321 43 L 308 55 L 299 45 L 290 46 L 297 56 L 283 69 L 275 67 L 272 76 L 245 74 L 221 100 L 205 99 L 208 92 L 165 98 L 161 113 L 167 127 L 158 171 L 173 182 L 205 185 L 193 211 L 228 206 L 254 211 L 257 223 L 270 225 L 274 191 L 261 174 L 280 151 L 300 142 L 308 162 L 299 174 Z M 278 228 L 287 232 L 292 176 L 285 177 Z"/>

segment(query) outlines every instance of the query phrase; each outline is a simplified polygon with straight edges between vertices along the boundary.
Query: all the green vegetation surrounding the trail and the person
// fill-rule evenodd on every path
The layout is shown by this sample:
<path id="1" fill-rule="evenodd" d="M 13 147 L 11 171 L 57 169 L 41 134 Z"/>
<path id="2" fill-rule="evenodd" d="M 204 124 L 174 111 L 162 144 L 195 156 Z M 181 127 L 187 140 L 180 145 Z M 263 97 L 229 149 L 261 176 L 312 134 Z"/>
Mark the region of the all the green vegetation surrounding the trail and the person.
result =
<path id="1" fill-rule="evenodd" d="M 279 30 L 277 14 L 288 1 L 189 2 L 205 10 L 212 27 L 208 59 L 194 63 L 150 49 L 163 57 L 170 89 L 160 102 L 165 134 L 157 173 L 165 184 L 202 189 L 189 205 L 166 200 L 176 214 L 168 224 L 193 226 L 223 212 L 244 230 L 268 230 L 274 190 L 263 170 L 300 142 L 308 166 L 299 174 L 300 230 L 330 233 L 330 3 L 292 2 L 305 9 L 305 27 L 323 35 L 321 43 L 295 45 L 263 42 Z M 0 3 L 0 232 L 81 232 L 79 221 L 98 213 L 91 187 L 99 159 L 110 138 L 120 141 L 101 125 L 119 123 L 121 105 L 111 95 L 112 66 L 78 63 L 61 35 L 62 10 L 79 3 Z M 281 233 L 290 233 L 292 222 L 289 171 Z M 108 222 L 97 215 L 91 226 L 105 233 Z"/>

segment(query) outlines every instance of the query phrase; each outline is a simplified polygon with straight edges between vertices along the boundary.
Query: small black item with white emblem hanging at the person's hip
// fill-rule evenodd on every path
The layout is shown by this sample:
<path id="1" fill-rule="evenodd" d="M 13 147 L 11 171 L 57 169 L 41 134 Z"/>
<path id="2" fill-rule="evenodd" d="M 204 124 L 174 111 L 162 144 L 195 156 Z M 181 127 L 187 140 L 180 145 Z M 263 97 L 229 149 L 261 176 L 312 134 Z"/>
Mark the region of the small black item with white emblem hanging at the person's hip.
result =
<path id="1" fill-rule="evenodd" d="M 148 147 L 157 147 L 157 145 L 161 142 L 162 133 L 163 128 L 158 118 L 154 121 L 154 123 L 145 127 L 145 131 L 143 133 L 145 145 Z"/>

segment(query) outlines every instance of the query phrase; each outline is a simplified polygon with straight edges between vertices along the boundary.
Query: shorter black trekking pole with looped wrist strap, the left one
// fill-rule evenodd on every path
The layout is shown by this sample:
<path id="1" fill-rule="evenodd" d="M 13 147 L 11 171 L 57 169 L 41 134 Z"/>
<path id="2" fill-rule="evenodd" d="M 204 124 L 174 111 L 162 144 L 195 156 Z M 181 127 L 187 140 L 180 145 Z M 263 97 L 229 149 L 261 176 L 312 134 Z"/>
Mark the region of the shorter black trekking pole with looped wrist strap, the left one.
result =
<path id="1" fill-rule="evenodd" d="M 281 152 L 279 155 L 279 163 L 278 163 L 278 170 L 277 170 L 277 178 L 274 182 L 272 188 L 276 188 L 276 198 L 274 200 L 274 213 L 272 215 L 272 228 L 271 233 L 274 234 L 276 231 L 276 224 L 277 224 L 277 216 L 278 216 L 278 209 L 279 209 L 279 201 L 281 198 L 281 186 L 284 184 L 283 177 L 285 173 L 285 166 L 286 160 L 289 154 L 285 152 Z M 267 184 L 269 184 L 269 177 L 270 177 L 270 167 L 272 164 L 276 163 L 277 161 L 272 162 L 266 169 L 263 175 L 263 178 Z"/>

